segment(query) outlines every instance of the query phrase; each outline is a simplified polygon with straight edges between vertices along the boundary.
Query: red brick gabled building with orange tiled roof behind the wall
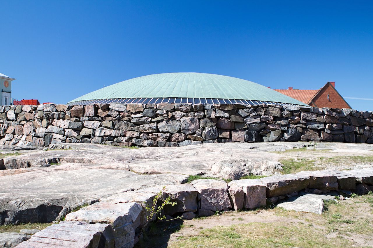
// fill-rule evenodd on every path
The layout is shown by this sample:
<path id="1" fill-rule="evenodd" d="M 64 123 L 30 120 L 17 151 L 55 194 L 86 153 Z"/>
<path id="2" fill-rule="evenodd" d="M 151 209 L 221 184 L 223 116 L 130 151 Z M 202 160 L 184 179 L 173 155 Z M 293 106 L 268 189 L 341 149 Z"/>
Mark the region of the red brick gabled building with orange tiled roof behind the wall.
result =
<path id="1" fill-rule="evenodd" d="M 301 90 L 292 87 L 275 90 L 313 107 L 351 108 L 335 89 L 335 82 L 327 82 L 323 88 L 317 90 Z"/>

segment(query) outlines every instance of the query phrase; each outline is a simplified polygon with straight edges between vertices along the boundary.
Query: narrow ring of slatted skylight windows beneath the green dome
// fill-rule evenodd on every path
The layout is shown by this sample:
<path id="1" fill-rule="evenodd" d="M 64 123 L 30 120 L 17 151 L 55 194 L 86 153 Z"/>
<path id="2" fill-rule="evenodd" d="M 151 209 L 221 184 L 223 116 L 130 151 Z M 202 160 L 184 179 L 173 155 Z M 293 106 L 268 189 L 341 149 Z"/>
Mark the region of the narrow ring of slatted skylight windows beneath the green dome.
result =
<path id="1" fill-rule="evenodd" d="M 249 104 L 249 105 L 292 105 L 301 106 L 297 104 L 287 104 L 283 102 L 269 102 L 269 101 L 255 101 L 242 99 L 217 99 L 217 98 L 116 98 L 116 99 L 94 99 L 71 102 L 68 105 L 92 105 L 92 104 L 110 104 L 110 103 L 137 103 L 137 104 L 159 104 L 159 103 L 192 103 L 192 104 Z"/>

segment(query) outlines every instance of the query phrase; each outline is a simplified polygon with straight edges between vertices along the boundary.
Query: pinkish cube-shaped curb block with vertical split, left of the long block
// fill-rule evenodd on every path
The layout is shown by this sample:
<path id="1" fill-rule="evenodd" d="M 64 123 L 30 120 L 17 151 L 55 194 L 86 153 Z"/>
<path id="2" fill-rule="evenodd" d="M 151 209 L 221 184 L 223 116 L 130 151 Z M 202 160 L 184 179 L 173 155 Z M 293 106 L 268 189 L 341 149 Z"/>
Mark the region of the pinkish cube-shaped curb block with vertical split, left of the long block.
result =
<path id="1" fill-rule="evenodd" d="M 235 210 L 236 208 L 242 209 L 242 207 L 245 207 L 245 209 L 256 209 L 266 206 L 266 186 L 260 179 L 235 180 L 229 182 L 228 187 Z M 241 194 L 239 193 L 241 190 L 243 192 L 242 204 L 238 203 L 241 201 Z M 236 192 L 238 192 L 238 195 Z"/>

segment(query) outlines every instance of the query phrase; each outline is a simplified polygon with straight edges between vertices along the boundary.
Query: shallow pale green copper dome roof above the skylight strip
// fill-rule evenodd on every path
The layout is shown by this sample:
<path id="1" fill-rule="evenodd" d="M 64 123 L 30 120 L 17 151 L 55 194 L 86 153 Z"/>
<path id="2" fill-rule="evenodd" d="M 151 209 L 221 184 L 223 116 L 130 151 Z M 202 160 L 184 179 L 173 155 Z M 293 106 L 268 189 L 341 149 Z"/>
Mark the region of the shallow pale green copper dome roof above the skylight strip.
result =
<path id="1" fill-rule="evenodd" d="M 188 100 L 177 100 L 183 98 Z M 94 101 L 101 99 L 112 99 L 113 101 Z M 120 99 L 123 99 L 123 101 Z M 211 99 L 211 103 L 218 103 L 214 102 L 213 99 L 236 99 L 261 101 L 262 103 L 305 105 L 294 98 L 248 80 L 192 72 L 162 73 L 136 77 L 95 90 L 70 101 L 68 104 L 128 103 L 127 99 L 136 99 L 136 101 L 131 102 L 138 103 L 159 103 L 164 102 L 164 99 L 167 99 L 166 102 L 191 102 L 191 99 L 199 99 L 198 101 L 202 103 L 209 101 L 202 101 L 201 99 Z M 143 99 L 163 99 L 163 101 L 146 102 L 142 101 Z M 232 103 L 236 102 L 238 101 Z M 249 104 L 251 103 L 249 102 Z"/>

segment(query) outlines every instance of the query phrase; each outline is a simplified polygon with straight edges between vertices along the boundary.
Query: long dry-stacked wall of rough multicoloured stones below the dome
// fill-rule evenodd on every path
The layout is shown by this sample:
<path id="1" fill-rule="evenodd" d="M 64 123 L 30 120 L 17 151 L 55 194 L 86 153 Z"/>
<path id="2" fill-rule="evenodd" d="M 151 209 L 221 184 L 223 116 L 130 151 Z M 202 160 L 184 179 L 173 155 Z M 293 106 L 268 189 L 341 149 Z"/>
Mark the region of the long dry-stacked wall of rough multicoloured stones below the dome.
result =
<path id="1" fill-rule="evenodd" d="M 241 104 L 0 106 L 0 144 L 328 141 L 373 143 L 372 112 Z"/>

